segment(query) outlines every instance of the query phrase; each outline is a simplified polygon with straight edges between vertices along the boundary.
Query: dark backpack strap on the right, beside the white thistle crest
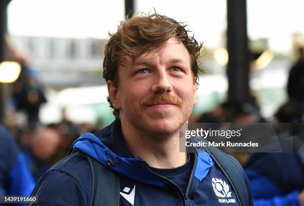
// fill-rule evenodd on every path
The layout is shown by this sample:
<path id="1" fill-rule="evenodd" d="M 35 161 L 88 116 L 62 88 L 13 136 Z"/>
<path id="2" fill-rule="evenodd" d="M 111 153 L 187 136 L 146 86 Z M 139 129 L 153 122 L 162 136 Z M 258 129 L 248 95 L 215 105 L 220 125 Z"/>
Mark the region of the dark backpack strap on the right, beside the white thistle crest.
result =
<path id="1" fill-rule="evenodd" d="M 216 147 L 207 146 L 204 149 L 210 154 L 211 158 L 215 161 L 215 163 L 220 167 L 223 174 L 228 179 L 232 189 L 235 192 L 236 199 L 240 203 L 241 206 L 252 206 L 249 199 L 251 199 L 251 194 L 248 186 L 246 185 L 246 181 L 244 178 L 244 174 L 239 168 L 239 166 L 231 159 L 231 157 L 220 151 Z"/>

